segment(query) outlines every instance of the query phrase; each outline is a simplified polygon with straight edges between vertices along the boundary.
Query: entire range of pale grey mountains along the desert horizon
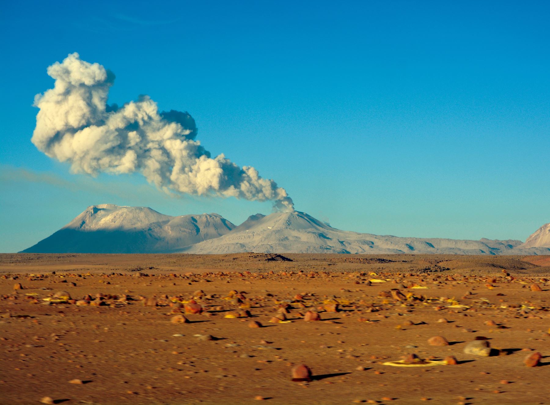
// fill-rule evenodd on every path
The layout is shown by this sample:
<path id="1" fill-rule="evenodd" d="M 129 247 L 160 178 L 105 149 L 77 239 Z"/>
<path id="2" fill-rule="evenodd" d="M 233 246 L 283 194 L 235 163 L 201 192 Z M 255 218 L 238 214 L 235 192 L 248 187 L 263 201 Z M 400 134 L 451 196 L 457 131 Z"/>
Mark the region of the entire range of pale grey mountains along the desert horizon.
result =
<path id="1" fill-rule="evenodd" d="M 550 224 L 547 226 L 550 229 Z M 52 236 L 23 252 L 548 255 L 550 243 L 545 245 L 544 227 L 525 243 L 485 238 L 404 238 L 341 231 L 299 211 L 256 214 L 235 226 L 218 214 L 169 216 L 148 207 L 101 204 L 88 207 Z"/>

